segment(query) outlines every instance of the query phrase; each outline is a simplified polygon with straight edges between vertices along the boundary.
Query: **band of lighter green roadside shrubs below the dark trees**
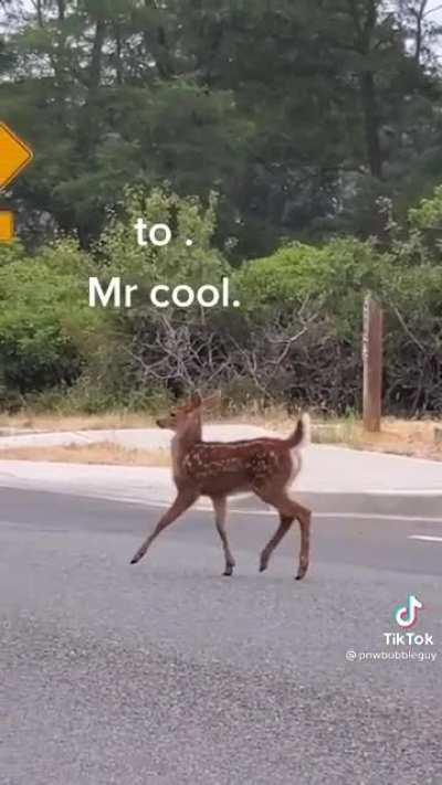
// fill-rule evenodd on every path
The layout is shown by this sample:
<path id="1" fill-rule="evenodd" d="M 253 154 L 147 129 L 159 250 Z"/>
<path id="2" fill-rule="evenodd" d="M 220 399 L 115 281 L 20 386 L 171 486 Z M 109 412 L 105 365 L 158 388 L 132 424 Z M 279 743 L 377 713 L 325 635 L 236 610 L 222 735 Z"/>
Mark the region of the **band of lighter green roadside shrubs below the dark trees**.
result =
<path id="1" fill-rule="evenodd" d="M 441 415 L 442 188 L 403 224 L 389 215 L 387 244 L 287 242 L 240 266 L 214 245 L 215 213 L 214 197 L 204 205 L 164 189 L 127 190 L 90 251 L 67 237 L 33 254 L 19 242 L 1 247 L 3 412 L 151 416 L 199 386 L 222 389 L 228 416 L 274 405 L 356 416 L 370 290 L 386 314 L 385 413 Z M 136 214 L 169 220 L 170 245 L 139 247 Z M 191 248 L 182 240 L 189 233 Z M 137 283 L 139 299 L 130 309 L 90 308 L 92 273 Z M 225 274 L 241 308 L 156 310 L 143 296 L 156 282 L 217 284 Z"/>

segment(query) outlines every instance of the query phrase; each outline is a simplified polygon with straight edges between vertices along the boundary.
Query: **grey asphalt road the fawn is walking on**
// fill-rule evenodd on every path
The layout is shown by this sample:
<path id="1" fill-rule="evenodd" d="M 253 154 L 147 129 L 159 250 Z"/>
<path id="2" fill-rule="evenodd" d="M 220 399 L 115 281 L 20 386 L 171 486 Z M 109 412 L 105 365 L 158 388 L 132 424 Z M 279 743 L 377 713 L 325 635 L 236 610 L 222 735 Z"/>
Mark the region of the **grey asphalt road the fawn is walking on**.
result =
<path id="1" fill-rule="evenodd" d="M 265 510 L 225 579 L 207 512 L 130 566 L 159 510 L 0 501 L 1 785 L 442 783 L 442 521 L 318 516 L 295 582 L 297 532 L 257 573 Z M 385 640 L 409 593 L 433 645 Z"/>

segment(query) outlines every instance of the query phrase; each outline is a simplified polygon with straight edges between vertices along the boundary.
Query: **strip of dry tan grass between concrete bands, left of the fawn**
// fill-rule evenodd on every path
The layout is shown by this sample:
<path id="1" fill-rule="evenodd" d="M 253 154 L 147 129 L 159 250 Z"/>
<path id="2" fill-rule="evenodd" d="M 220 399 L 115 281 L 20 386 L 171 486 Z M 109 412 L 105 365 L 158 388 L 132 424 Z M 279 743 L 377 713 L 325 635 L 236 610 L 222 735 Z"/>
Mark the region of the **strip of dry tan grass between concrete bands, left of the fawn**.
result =
<path id="1" fill-rule="evenodd" d="M 170 464 L 169 450 L 130 449 L 110 442 L 57 447 L 11 447 L 0 449 L 0 460 L 49 460 L 113 466 L 169 466 Z"/>

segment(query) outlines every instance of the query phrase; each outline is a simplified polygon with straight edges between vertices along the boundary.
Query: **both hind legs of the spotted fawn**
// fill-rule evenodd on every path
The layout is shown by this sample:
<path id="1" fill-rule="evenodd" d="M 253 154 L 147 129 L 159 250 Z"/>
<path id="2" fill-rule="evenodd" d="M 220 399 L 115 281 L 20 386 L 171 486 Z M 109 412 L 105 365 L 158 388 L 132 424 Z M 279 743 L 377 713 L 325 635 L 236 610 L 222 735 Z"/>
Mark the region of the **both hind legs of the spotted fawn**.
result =
<path id="1" fill-rule="evenodd" d="M 296 580 L 301 581 L 307 572 L 309 561 L 311 510 L 291 499 L 285 489 L 275 490 L 272 488 L 255 487 L 253 490 L 260 499 L 272 505 L 272 507 L 275 507 L 280 512 L 280 526 L 261 553 L 260 570 L 262 571 L 267 567 L 274 549 L 281 542 L 284 534 L 291 528 L 293 520 L 296 518 L 301 529 L 299 565 Z"/>

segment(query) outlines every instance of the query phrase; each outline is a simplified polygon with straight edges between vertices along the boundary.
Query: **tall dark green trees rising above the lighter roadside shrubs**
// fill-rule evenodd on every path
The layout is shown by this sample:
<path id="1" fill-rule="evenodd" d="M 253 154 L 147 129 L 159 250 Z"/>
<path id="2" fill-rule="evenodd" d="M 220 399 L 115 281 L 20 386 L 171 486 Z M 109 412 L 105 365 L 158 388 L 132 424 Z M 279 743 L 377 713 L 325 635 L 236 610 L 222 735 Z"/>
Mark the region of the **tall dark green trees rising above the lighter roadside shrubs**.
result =
<path id="1" fill-rule="evenodd" d="M 127 184 L 219 193 L 234 263 L 385 230 L 441 180 L 436 28 L 418 0 L 25 0 L 0 7 L 0 115 L 35 160 L 27 243 L 83 247 Z M 420 24 L 418 25 L 418 21 Z"/>

